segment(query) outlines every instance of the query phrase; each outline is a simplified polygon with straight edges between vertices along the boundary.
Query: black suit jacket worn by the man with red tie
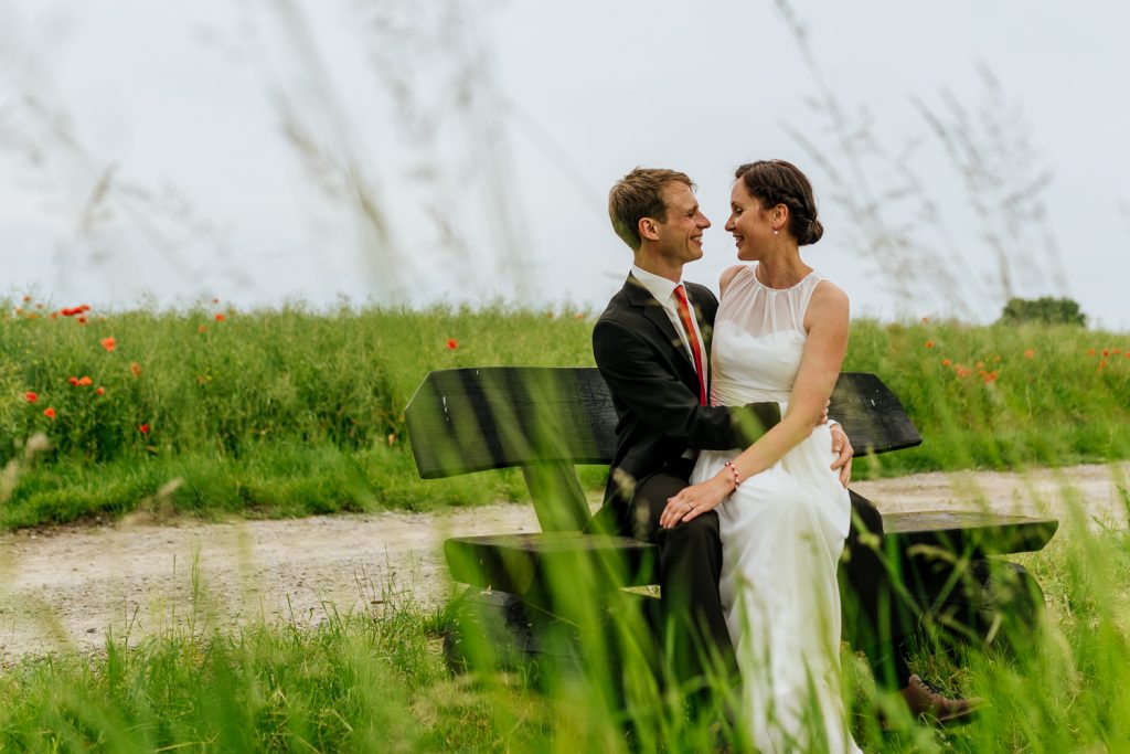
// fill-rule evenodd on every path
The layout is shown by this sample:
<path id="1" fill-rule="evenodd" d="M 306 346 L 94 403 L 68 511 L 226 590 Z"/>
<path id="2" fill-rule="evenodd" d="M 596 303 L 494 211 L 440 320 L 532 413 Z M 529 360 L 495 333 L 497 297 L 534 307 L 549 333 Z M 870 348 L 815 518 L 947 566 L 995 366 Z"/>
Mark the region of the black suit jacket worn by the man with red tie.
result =
<path id="1" fill-rule="evenodd" d="M 706 354 L 718 300 L 705 286 L 686 283 Z M 635 486 L 671 467 L 689 468 L 688 449 L 728 450 L 753 444 L 781 419 L 776 404 L 713 407 L 698 404 L 698 375 L 663 307 L 635 277 L 608 302 L 592 331 L 597 367 L 612 395 L 618 422 L 601 528 L 629 534 L 627 514 Z"/>

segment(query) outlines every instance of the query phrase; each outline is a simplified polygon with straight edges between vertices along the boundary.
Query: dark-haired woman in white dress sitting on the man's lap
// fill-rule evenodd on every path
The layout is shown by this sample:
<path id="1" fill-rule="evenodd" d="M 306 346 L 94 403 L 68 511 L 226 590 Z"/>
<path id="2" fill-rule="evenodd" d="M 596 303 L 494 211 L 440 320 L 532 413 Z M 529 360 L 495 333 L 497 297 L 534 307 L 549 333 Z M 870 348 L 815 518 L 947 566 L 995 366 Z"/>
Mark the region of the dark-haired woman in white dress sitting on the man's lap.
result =
<path id="1" fill-rule="evenodd" d="M 745 450 L 709 451 L 662 526 L 718 508 L 722 604 L 744 709 L 765 752 L 857 752 L 840 696 L 836 565 L 851 517 L 829 467 L 825 410 L 847 347 L 847 296 L 800 259 L 823 234 L 808 179 L 783 161 L 742 165 L 725 228 L 711 402 L 775 400 L 782 421 Z"/>

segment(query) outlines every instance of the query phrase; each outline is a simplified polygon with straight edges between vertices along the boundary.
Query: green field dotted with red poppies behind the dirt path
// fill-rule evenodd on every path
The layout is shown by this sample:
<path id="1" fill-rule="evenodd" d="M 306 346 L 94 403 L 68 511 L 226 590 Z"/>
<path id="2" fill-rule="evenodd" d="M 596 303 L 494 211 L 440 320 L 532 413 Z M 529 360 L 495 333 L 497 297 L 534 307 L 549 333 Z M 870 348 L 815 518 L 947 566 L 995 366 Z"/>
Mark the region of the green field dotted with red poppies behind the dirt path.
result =
<path id="1" fill-rule="evenodd" d="M 112 518 L 158 500 L 205 515 L 521 500 L 518 474 L 418 479 L 403 407 L 431 370 L 591 365 L 596 317 L 219 304 L 67 317 L 31 301 L 0 304 L 0 460 L 15 461 L 0 523 L 9 528 Z M 857 477 L 1130 454 L 1125 335 L 864 320 L 853 324 L 845 369 L 879 374 L 925 437 L 881 466 L 859 463 Z M 38 433 L 47 449 L 29 454 L 24 443 Z M 586 470 L 590 488 L 603 474 Z"/>

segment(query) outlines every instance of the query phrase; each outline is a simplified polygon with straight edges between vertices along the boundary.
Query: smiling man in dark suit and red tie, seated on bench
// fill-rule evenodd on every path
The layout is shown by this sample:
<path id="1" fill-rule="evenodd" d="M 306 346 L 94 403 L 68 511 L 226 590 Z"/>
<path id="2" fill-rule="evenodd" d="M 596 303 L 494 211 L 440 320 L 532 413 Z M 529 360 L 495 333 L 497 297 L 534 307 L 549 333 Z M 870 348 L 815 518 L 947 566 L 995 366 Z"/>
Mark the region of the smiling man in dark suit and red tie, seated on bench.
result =
<path id="1" fill-rule="evenodd" d="M 668 497 L 687 486 L 697 451 L 746 448 L 781 414 L 776 404 L 706 405 L 718 300 L 709 288 L 683 281 L 683 267 L 702 258 L 703 231 L 710 227 L 694 188 L 684 173 L 636 168 L 609 192 L 612 227 L 633 250 L 635 263 L 592 333 L 597 366 L 619 421 L 605 504 L 588 529 L 659 546 L 662 613 L 675 632 L 666 644 L 675 650 L 677 677 L 686 682 L 720 670 L 728 676 L 723 682 L 732 682 L 738 665 L 719 596 L 718 514 L 710 511 L 671 529 L 661 528 L 659 519 Z M 838 425 L 832 428 L 832 468 L 846 485 L 853 451 Z M 850 551 L 858 525 L 883 531 L 867 500 L 852 494 L 852 509 Z M 847 575 L 864 609 L 877 609 L 887 579 L 867 549 L 852 551 Z M 965 713 L 962 700 L 948 700 L 910 674 L 903 642 L 887 642 L 871 653 L 884 656 L 883 664 L 872 659 L 876 678 L 901 688 L 915 714 Z"/>

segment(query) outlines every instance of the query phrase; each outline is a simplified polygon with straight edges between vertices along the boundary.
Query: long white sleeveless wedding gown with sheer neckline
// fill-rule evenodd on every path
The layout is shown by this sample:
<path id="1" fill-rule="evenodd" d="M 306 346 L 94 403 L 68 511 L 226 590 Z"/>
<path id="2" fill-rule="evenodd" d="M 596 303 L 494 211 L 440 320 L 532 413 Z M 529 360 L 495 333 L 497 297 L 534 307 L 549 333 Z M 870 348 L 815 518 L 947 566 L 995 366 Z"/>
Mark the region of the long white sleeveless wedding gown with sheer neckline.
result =
<path id="1" fill-rule="evenodd" d="M 777 401 L 788 408 L 805 348 L 811 272 L 777 291 L 741 269 L 714 323 L 711 402 Z M 734 451 L 704 451 L 692 482 Z M 836 564 L 851 518 L 847 491 L 829 468 L 826 426 L 718 506 L 722 606 L 741 668 L 745 710 L 764 752 L 858 752 L 840 697 Z"/>

